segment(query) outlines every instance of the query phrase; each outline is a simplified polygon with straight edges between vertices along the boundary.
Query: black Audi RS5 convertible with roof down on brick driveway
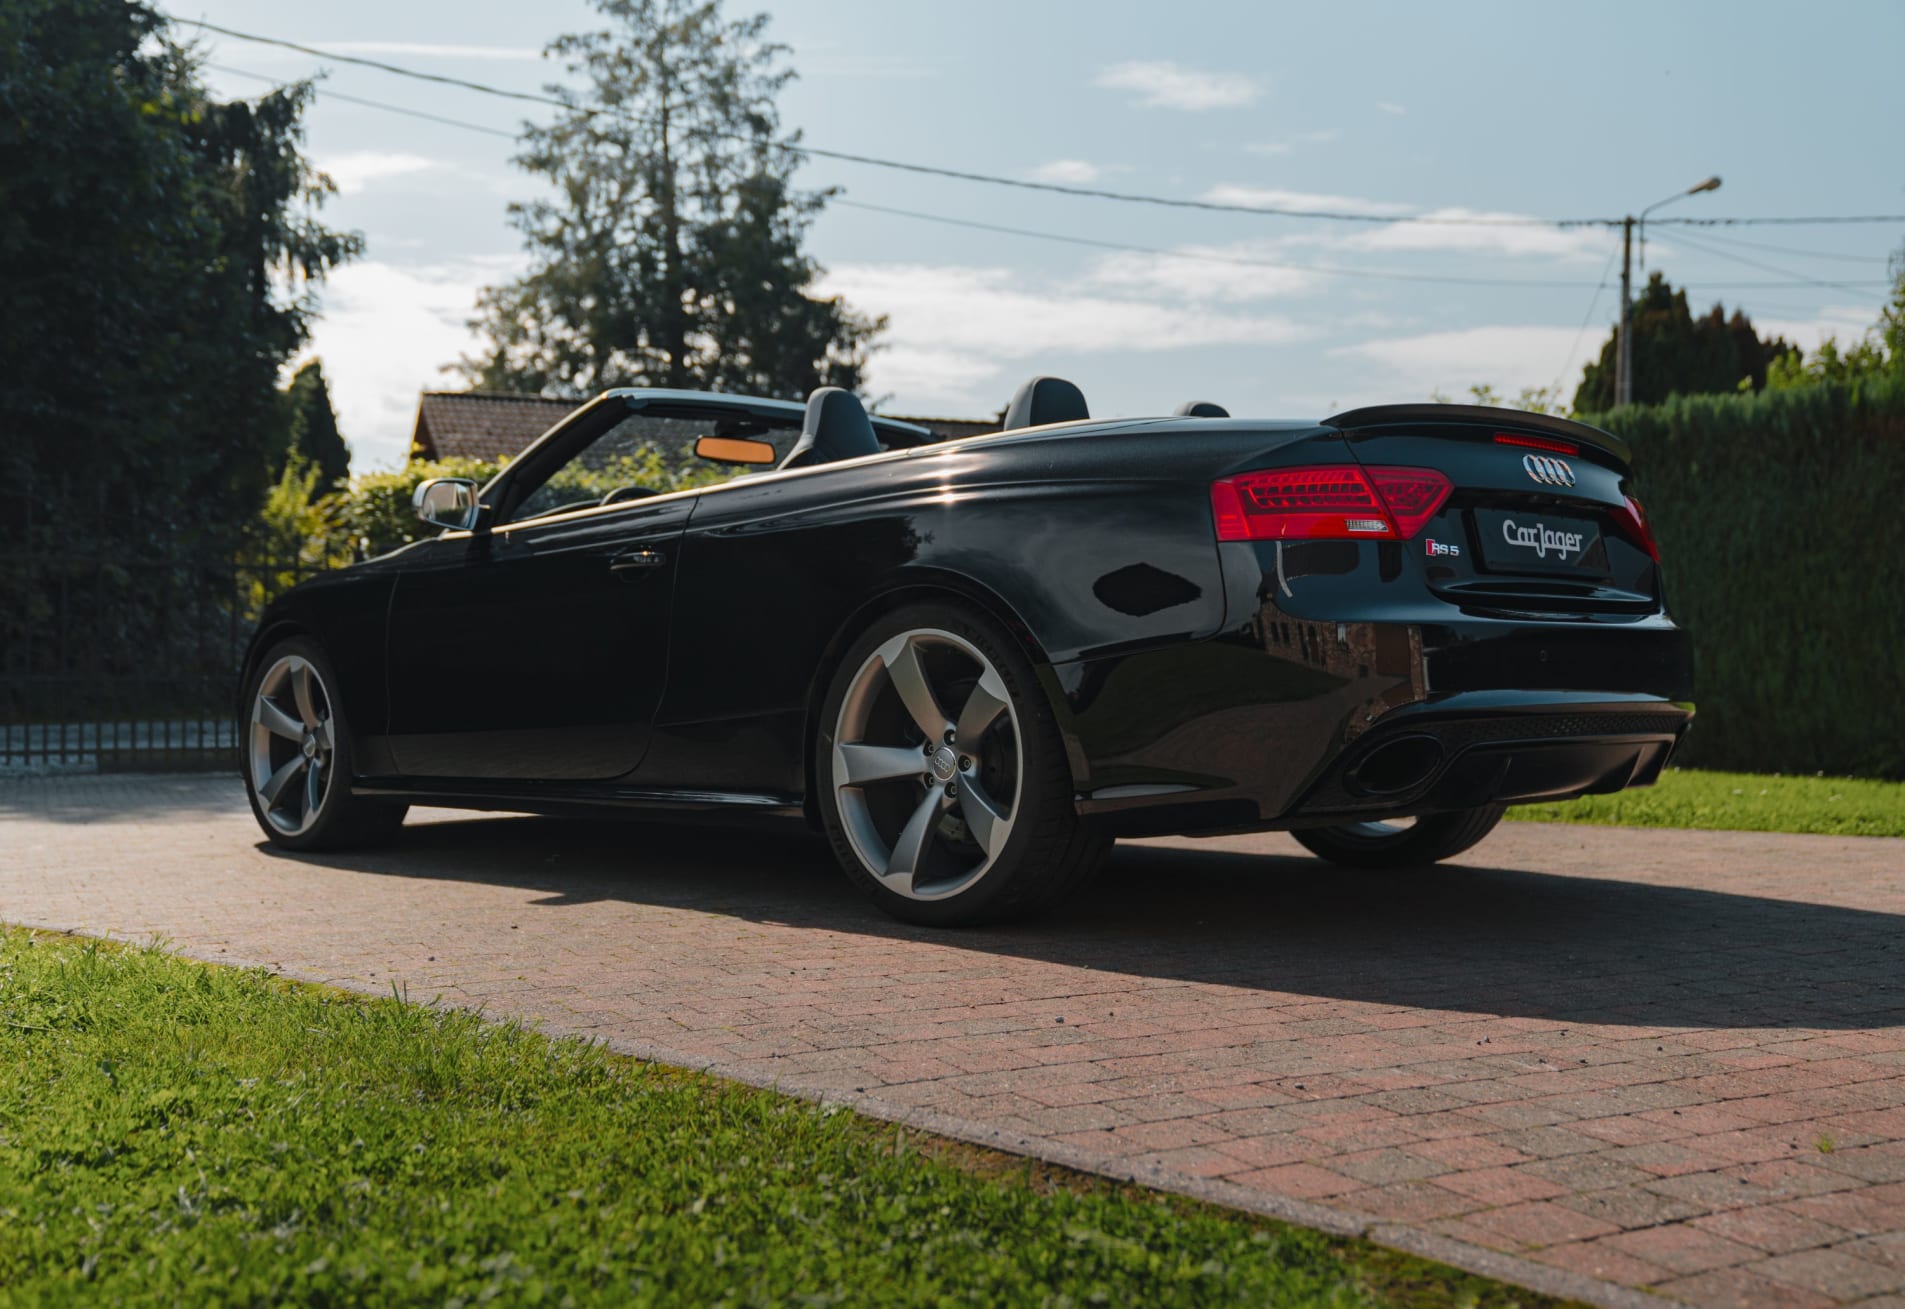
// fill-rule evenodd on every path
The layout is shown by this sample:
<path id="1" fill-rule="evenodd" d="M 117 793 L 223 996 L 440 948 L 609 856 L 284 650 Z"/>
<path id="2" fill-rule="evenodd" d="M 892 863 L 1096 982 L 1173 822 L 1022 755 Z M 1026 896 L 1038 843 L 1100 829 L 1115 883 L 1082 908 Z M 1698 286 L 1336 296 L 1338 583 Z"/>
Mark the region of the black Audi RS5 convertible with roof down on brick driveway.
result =
<path id="1" fill-rule="evenodd" d="M 625 482 L 657 425 L 762 471 Z M 1534 413 L 1093 421 L 1038 377 L 935 442 L 832 389 L 612 391 L 417 511 L 440 535 L 290 591 L 246 655 L 280 846 L 410 804 L 791 819 L 956 924 L 1116 836 L 1429 863 L 1652 783 L 1692 718 L 1627 446 Z"/>

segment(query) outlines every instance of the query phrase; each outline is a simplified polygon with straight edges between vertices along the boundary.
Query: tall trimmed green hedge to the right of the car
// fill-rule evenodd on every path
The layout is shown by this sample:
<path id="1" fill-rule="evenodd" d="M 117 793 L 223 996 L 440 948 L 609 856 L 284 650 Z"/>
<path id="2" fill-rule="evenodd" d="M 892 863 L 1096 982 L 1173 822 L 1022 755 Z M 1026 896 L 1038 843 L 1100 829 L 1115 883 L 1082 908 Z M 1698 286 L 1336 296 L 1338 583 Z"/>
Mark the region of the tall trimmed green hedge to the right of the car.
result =
<path id="1" fill-rule="evenodd" d="M 1587 413 L 1694 634 L 1678 762 L 1905 777 L 1905 375 Z"/>

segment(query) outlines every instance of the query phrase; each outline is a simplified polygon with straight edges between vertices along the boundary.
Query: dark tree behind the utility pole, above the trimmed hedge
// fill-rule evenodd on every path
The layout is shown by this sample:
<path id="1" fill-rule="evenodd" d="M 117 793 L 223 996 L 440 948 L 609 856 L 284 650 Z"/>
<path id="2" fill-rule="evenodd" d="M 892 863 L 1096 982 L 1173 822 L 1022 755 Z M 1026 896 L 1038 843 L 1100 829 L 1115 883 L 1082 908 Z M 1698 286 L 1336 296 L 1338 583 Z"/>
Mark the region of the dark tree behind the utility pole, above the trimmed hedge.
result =
<path id="1" fill-rule="evenodd" d="M 1747 387 L 1766 387 L 1766 370 L 1793 345 L 1779 337 L 1760 337 L 1745 311 L 1732 318 L 1720 305 L 1694 318 L 1686 292 L 1676 292 L 1654 272 L 1629 314 L 1634 333 L 1634 404 L 1659 404 L 1676 394 L 1726 394 Z M 1574 393 L 1575 412 L 1614 408 L 1615 358 L 1621 333 L 1615 328 L 1600 347 Z"/>

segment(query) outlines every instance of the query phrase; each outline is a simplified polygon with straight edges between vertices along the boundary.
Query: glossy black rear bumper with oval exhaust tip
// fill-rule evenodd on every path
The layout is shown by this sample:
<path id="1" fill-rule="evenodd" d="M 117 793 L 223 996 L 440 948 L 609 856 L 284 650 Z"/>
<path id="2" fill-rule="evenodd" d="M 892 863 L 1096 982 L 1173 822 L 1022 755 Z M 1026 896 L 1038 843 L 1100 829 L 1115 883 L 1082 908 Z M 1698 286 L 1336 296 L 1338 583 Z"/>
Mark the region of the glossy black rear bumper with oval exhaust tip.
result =
<path id="1" fill-rule="evenodd" d="M 1692 722 L 1686 634 L 1617 623 L 1328 623 L 1048 671 L 1080 816 L 1252 831 L 1648 785 Z"/>

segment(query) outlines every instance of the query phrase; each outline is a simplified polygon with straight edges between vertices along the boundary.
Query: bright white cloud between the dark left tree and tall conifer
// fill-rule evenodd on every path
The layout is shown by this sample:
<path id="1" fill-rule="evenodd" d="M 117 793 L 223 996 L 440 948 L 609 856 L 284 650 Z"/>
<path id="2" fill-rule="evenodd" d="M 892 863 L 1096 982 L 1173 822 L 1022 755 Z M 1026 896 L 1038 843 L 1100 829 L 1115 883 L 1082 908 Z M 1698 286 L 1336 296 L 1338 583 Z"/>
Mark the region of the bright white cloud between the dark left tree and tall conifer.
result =
<path id="1" fill-rule="evenodd" d="M 311 352 L 324 360 L 352 469 L 389 469 L 410 453 L 417 393 L 451 389 L 442 368 L 472 347 L 476 292 L 514 276 L 518 255 L 459 263 L 347 263 L 324 284 Z"/>

